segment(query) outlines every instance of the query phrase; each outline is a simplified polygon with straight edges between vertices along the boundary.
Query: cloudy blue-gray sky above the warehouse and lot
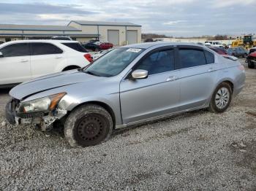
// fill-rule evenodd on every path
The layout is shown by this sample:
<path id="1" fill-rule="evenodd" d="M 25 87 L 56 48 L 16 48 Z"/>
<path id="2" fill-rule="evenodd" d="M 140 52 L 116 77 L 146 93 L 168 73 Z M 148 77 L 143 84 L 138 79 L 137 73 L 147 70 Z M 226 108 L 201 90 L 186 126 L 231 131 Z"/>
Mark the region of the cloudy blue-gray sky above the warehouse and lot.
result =
<path id="1" fill-rule="evenodd" d="M 171 36 L 255 34 L 256 0 L 0 0 L 0 23 L 126 21 Z"/>

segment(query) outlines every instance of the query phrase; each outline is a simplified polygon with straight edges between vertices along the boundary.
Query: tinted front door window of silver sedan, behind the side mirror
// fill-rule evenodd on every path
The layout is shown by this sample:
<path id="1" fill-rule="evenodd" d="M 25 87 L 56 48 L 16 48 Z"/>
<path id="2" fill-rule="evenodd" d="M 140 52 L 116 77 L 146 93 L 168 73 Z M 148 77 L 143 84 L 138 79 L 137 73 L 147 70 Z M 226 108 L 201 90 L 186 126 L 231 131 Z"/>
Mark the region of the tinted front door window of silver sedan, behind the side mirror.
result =
<path id="1" fill-rule="evenodd" d="M 143 58 L 135 69 L 148 71 L 148 75 L 174 70 L 174 50 L 160 50 Z"/>

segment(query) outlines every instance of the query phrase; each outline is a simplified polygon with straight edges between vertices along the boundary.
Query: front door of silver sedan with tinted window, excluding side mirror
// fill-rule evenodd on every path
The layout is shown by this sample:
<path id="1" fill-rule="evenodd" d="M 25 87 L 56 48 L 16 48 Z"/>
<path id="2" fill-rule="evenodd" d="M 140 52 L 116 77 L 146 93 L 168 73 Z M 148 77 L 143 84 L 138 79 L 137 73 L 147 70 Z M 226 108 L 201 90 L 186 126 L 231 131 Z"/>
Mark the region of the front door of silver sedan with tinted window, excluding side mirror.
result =
<path id="1" fill-rule="evenodd" d="M 147 70 L 148 78 L 121 81 L 120 101 L 124 124 L 177 111 L 180 86 L 174 55 L 173 48 L 148 53 L 132 69 Z"/>

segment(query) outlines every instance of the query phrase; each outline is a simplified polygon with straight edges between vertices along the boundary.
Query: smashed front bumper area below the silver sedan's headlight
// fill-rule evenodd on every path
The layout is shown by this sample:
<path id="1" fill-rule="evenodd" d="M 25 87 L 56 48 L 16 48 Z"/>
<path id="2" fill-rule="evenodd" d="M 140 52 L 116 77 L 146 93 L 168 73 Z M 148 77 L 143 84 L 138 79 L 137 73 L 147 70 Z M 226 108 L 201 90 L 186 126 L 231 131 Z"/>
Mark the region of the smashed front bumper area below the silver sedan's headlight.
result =
<path id="1" fill-rule="evenodd" d="M 61 120 L 67 114 L 66 110 L 58 108 L 53 112 L 18 113 L 19 102 L 12 98 L 5 108 L 6 119 L 12 125 L 39 125 L 42 130 L 48 130 L 52 128 L 53 122 Z"/>

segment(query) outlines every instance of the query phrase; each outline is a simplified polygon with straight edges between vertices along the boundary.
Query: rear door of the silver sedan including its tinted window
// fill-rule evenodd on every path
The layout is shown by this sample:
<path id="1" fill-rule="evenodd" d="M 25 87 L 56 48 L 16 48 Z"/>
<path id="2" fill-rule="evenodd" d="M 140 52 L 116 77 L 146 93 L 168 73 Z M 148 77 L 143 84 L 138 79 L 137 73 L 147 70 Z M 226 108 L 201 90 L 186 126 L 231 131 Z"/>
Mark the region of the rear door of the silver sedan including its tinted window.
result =
<path id="1" fill-rule="evenodd" d="M 181 110 L 206 104 L 217 81 L 214 54 L 200 47 L 178 47 L 181 66 Z"/>

